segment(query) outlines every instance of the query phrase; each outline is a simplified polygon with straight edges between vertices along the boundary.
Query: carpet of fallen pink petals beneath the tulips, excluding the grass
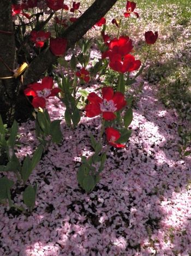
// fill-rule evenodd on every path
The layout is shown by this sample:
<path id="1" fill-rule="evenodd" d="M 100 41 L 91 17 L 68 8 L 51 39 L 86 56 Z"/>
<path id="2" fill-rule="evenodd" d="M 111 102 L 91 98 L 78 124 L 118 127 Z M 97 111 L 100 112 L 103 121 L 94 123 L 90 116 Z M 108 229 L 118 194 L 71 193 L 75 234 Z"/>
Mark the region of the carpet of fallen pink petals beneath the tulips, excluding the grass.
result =
<path id="1" fill-rule="evenodd" d="M 48 109 L 52 120 L 62 120 L 63 140 L 49 147 L 29 178 L 38 183 L 32 214 L 0 207 L 0 255 L 190 255 L 191 158 L 180 158 L 180 121 L 159 102 L 156 89 L 145 82 L 127 148 L 111 148 L 89 195 L 76 172 L 80 156 L 92 154 L 88 134 L 98 134 L 100 118 L 83 116 L 71 130 L 57 99 Z M 22 124 L 20 132 L 17 155 L 25 156 L 38 144 L 34 122 Z M 22 205 L 22 193 L 16 195 Z"/>

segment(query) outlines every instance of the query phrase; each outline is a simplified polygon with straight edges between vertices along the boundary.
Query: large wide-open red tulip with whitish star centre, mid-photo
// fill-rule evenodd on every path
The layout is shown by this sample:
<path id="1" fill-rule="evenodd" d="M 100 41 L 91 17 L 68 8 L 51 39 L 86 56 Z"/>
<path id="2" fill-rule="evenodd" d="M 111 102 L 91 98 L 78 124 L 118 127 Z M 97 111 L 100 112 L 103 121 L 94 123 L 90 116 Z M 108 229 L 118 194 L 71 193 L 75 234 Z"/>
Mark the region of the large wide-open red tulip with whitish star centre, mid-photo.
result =
<path id="1" fill-rule="evenodd" d="M 88 104 L 85 107 L 86 116 L 94 117 L 102 113 L 105 120 L 111 121 L 116 118 L 115 112 L 126 106 L 124 95 L 120 92 L 114 93 L 111 87 L 102 88 L 103 99 L 96 93 L 89 93 Z"/>

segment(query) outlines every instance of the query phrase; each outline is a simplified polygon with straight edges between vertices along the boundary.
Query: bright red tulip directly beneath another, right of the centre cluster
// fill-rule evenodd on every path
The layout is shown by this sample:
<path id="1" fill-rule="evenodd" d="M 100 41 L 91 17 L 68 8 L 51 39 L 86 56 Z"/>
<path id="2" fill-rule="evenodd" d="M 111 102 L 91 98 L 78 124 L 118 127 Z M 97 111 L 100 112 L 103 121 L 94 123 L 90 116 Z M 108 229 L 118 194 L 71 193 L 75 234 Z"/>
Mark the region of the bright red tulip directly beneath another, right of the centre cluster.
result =
<path id="1" fill-rule="evenodd" d="M 114 54 L 110 58 L 109 66 L 112 70 L 120 73 L 126 73 L 138 70 L 141 66 L 141 61 L 135 60 L 135 57 L 131 54 L 126 54 L 124 56 L 120 54 Z"/>

